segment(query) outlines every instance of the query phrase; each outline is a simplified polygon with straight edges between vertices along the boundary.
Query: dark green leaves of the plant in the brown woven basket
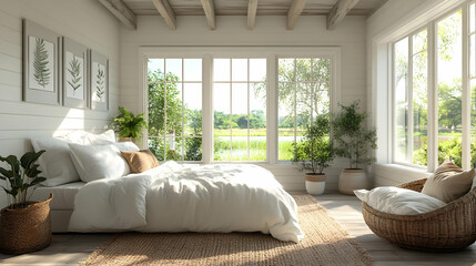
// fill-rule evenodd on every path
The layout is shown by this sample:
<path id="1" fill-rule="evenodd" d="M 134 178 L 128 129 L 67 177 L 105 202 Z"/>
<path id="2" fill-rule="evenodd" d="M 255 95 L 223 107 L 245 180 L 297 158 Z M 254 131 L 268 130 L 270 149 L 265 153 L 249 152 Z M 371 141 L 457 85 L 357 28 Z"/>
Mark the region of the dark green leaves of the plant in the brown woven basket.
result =
<path id="1" fill-rule="evenodd" d="M 38 176 L 41 171 L 38 170 L 39 164 L 36 164 L 44 152 L 28 152 L 21 156 L 20 161 L 14 155 L 8 157 L 0 156 L 0 162 L 10 165 L 10 170 L 0 167 L 0 180 L 8 181 L 9 186 L 1 187 L 12 198 L 12 208 L 26 207 L 28 188 L 47 180 L 45 177 Z"/>

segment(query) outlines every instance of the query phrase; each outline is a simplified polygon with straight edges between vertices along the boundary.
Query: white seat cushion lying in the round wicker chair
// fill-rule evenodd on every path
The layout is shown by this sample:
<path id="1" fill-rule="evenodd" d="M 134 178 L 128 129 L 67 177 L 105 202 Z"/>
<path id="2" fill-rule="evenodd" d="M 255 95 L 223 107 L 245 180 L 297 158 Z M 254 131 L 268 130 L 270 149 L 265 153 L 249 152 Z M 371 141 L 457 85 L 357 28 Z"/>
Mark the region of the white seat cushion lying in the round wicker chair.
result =
<path id="1" fill-rule="evenodd" d="M 376 211 L 397 215 L 417 215 L 440 208 L 446 203 L 415 191 L 381 186 L 372 191 L 354 191 L 355 195 Z"/>

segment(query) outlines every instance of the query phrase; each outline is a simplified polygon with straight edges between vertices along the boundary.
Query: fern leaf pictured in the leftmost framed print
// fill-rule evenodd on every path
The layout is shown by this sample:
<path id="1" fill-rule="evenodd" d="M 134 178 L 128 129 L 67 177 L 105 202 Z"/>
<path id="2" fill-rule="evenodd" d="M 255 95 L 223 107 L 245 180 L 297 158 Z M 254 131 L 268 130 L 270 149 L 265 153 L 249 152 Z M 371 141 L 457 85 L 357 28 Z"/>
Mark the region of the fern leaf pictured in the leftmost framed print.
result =
<path id="1" fill-rule="evenodd" d="M 48 51 L 44 48 L 44 40 L 36 38 L 33 51 L 33 78 L 43 89 L 50 84 L 50 70 L 48 66 Z"/>

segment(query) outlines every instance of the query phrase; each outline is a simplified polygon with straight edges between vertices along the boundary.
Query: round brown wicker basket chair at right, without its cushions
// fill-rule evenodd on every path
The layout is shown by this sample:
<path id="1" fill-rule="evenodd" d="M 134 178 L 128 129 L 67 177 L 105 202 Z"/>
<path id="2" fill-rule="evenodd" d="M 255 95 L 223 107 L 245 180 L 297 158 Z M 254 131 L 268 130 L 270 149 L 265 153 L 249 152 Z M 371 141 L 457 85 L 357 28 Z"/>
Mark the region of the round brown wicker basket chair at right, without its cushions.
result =
<path id="1" fill-rule="evenodd" d="M 425 180 L 398 187 L 421 192 Z M 426 252 L 463 249 L 476 241 L 476 187 L 446 206 L 419 215 L 395 215 L 362 203 L 365 223 L 377 236 L 401 247 Z"/>

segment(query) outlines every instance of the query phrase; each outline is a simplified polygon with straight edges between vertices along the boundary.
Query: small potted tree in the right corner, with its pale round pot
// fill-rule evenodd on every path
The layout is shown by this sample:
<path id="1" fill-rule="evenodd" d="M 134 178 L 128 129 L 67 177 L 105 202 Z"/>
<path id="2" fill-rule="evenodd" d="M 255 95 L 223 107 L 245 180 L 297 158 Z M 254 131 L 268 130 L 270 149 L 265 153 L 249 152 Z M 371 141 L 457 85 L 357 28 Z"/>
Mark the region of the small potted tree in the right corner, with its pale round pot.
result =
<path id="1" fill-rule="evenodd" d="M 341 112 L 333 120 L 333 136 L 337 156 L 348 160 L 348 168 L 344 168 L 338 180 L 338 191 L 354 195 L 354 190 L 367 187 L 367 175 L 361 165 L 368 165 L 375 161 L 368 155 L 377 147 L 376 129 L 365 129 L 367 113 L 358 111 L 359 102 L 342 105 Z"/>

